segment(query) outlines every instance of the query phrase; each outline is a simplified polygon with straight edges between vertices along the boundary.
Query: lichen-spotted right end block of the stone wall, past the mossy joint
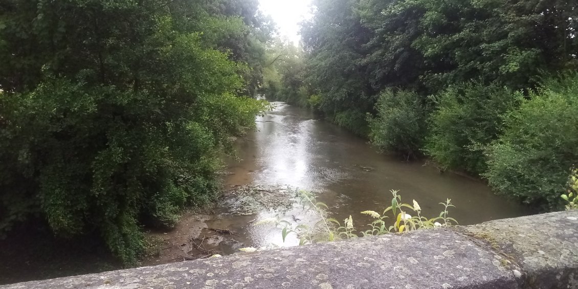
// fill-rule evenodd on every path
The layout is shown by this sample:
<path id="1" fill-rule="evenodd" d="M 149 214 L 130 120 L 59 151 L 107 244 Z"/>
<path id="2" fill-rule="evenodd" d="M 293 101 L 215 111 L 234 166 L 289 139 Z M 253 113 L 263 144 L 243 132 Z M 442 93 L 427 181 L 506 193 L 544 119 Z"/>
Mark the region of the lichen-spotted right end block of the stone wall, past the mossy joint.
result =
<path id="1" fill-rule="evenodd" d="M 520 266 L 521 287 L 578 288 L 578 210 L 461 229 Z"/>

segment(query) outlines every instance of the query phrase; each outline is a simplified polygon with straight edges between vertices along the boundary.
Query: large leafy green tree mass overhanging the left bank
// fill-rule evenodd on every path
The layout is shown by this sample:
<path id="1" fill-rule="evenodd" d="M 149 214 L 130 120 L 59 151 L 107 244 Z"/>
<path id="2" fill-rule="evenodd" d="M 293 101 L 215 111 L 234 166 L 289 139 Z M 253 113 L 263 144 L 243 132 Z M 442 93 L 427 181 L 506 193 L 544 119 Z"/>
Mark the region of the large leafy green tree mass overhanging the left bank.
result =
<path id="1" fill-rule="evenodd" d="M 269 106 L 241 95 L 249 61 L 221 51 L 252 28 L 181 4 L 3 4 L 0 234 L 38 216 L 132 264 L 141 220 L 171 226 L 214 198 L 219 151 Z"/>

